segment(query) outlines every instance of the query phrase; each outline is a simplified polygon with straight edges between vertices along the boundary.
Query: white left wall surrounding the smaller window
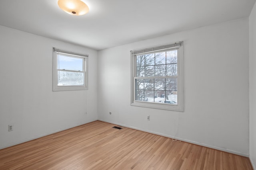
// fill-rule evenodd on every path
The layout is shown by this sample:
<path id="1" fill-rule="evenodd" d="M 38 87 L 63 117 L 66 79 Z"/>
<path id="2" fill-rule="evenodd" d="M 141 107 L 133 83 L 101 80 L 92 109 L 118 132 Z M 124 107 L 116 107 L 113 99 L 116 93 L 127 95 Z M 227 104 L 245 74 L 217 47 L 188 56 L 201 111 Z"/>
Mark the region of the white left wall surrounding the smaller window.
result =
<path id="1" fill-rule="evenodd" d="M 52 47 L 89 55 L 89 90 L 52 92 Z M 0 149 L 98 119 L 97 51 L 0 26 L 0 52 Z"/>

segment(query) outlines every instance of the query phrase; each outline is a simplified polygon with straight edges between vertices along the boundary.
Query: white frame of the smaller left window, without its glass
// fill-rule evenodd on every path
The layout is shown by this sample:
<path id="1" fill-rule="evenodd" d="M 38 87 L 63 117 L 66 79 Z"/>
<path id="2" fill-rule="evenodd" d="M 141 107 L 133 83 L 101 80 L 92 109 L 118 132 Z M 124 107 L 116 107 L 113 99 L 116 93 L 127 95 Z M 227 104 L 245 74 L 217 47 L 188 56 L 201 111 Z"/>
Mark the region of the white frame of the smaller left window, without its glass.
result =
<path id="1" fill-rule="evenodd" d="M 84 85 L 58 86 L 58 54 L 83 59 Z M 88 90 L 88 55 L 53 48 L 52 91 Z"/>

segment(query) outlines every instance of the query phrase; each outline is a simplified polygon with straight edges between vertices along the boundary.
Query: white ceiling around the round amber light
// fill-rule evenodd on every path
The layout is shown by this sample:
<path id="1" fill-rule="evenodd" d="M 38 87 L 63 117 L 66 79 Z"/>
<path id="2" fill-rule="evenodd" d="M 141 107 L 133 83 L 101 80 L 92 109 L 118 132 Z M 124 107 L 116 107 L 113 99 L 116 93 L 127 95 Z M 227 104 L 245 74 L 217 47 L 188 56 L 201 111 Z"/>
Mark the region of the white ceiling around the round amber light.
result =
<path id="1" fill-rule="evenodd" d="M 100 50 L 248 17 L 255 0 L 83 0 L 72 16 L 58 0 L 0 0 L 0 25 Z"/>

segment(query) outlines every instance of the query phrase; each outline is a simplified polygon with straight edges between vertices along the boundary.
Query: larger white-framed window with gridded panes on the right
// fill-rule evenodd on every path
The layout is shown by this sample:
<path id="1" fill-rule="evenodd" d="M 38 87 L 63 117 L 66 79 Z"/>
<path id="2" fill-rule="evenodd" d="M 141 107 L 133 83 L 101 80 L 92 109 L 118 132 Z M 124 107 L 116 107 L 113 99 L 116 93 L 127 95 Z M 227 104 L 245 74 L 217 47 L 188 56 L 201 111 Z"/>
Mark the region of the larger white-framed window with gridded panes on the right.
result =
<path id="1" fill-rule="evenodd" d="M 183 42 L 131 51 L 132 106 L 183 111 Z"/>

